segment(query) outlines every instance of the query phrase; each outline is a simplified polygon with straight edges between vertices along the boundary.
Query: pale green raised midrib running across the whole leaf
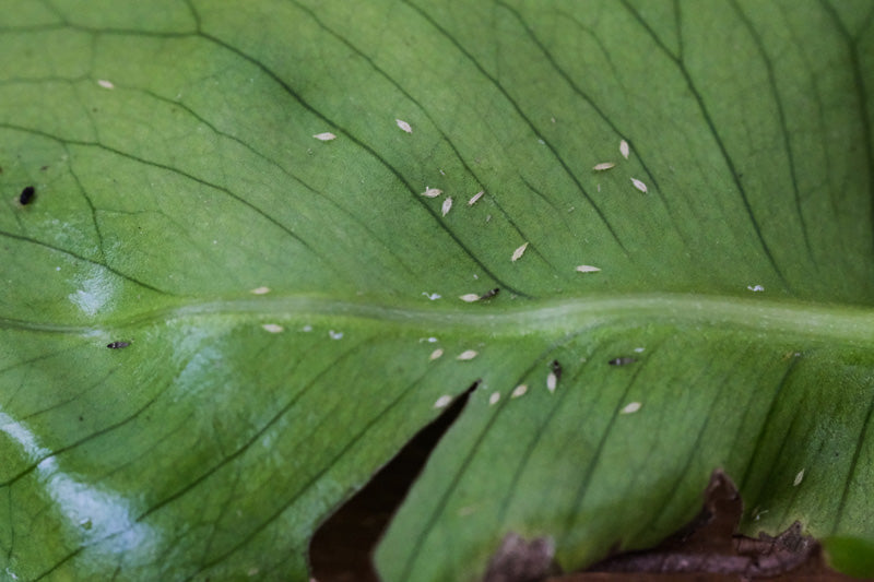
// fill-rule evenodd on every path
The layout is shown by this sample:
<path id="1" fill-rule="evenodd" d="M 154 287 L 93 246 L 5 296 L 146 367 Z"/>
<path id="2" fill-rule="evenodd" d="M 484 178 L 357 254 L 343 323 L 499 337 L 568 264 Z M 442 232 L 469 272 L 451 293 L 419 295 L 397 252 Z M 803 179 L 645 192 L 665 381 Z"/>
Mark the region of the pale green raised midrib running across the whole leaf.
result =
<path id="1" fill-rule="evenodd" d="M 610 324 L 652 322 L 696 325 L 806 337 L 842 345 L 874 347 L 874 308 L 775 301 L 759 298 L 694 294 L 625 294 L 552 301 L 498 300 L 472 305 L 390 306 L 326 296 L 286 295 L 192 301 L 91 325 L 57 324 L 0 318 L 0 328 L 102 337 L 107 333 L 180 320 L 222 322 L 307 322 L 359 320 L 416 332 L 513 337 L 579 332 Z M 448 306 L 448 307 L 447 307 Z"/>

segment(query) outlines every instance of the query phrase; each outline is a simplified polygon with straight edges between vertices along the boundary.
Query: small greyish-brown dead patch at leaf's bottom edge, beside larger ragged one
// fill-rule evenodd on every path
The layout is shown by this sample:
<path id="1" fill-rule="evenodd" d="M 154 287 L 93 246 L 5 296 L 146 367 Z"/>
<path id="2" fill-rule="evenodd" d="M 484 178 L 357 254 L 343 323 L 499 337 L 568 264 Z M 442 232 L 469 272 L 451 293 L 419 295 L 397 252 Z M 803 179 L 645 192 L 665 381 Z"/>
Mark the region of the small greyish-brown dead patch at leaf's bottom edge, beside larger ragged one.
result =
<path id="1" fill-rule="evenodd" d="M 560 573 L 555 563 L 555 542 L 535 537 L 530 542 L 510 532 L 488 562 L 484 582 L 534 582 Z"/>

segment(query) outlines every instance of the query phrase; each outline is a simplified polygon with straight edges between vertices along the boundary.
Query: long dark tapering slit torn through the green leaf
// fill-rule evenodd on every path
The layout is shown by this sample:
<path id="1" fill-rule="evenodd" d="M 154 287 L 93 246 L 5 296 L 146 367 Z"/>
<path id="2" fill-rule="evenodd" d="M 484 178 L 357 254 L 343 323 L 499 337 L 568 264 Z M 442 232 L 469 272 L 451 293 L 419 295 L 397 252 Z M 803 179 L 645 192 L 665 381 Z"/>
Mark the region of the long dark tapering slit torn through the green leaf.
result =
<path id="1" fill-rule="evenodd" d="M 309 565 L 319 582 L 377 582 L 371 555 L 434 448 L 464 409 L 476 383 L 420 430 L 370 482 L 316 531 Z"/>

